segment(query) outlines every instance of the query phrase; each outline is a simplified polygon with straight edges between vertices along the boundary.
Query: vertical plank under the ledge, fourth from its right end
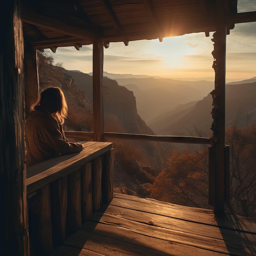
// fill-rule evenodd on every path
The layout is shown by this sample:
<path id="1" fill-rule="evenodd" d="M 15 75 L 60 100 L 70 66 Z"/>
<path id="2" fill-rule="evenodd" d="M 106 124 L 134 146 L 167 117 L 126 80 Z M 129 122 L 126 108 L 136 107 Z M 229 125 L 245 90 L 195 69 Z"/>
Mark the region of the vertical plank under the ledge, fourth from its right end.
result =
<path id="1" fill-rule="evenodd" d="M 67 175 L 67 234 L 73 234 L 82 225 L 81 170 Z"/>

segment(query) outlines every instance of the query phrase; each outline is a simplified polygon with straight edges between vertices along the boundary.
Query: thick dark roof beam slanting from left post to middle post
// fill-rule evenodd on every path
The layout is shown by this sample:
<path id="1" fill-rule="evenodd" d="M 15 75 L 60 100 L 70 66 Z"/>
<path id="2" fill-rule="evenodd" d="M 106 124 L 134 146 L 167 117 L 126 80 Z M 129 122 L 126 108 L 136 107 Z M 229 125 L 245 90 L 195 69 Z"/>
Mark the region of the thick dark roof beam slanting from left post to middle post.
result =
<path id="1" fill-rule="evenodd" d="M 94 33 L 86 29 L 81 29 L 79 27 L 74 27 L 72 25 L 68 25 L 64 22 L 54 20 L 53 18 L 26 9 L 22 10 L 22 21 L 35 26 L 54 30 L 64 35 L 74 36 L 76 38 L 92 40 L 97 39 L 99 36 L 98 33 Z"/>

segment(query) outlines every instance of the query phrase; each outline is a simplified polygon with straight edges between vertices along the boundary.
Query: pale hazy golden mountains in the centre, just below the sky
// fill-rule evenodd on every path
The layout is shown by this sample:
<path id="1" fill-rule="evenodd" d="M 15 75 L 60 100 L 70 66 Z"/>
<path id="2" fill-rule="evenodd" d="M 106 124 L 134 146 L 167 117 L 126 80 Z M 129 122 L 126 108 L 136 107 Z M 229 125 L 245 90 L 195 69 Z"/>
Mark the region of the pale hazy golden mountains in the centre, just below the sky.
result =
<path id="1" fill-rule="evenodd" d="M 153 77 L 115 80 L 134 93 L 138 114 L 146 123 L 177 105 L 202 99 L 214 88 L 214 83 L 209 81 L 178 81 Z"/>

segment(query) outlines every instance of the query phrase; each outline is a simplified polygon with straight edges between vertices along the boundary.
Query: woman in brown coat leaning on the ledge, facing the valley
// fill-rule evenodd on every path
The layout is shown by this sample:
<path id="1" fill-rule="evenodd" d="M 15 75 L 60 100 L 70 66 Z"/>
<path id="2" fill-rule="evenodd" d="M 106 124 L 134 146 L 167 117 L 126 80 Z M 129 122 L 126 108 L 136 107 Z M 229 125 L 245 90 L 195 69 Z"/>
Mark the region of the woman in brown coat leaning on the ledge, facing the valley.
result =
<path id="1" fill-rule="evenodd" d="M 60 88 L 47 88 L 31 106 L 26 121 L 27 166 L 58 155 L 80 152 L 81 143 L 71 143 L 63 131 L 67 103 Z"/>

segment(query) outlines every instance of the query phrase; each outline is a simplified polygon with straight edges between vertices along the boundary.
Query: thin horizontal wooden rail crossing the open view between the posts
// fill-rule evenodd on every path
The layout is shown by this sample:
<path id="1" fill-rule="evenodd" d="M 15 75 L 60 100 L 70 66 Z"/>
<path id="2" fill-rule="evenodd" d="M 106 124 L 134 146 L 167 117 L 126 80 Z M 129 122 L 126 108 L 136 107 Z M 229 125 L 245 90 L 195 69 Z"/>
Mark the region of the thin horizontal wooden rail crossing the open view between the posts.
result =
<path id="1" fill-rule="evenodd" d="M 76 139 L 93 139 L 93 132 L 65 131 L 65 135 L 67 137 L 76 138 Z M 111 139 L 162 141 L 162 142 L 186 143 L 186 144 L 190 144 L 190 143 L 191 144 L 211 144 L 210 138 L 191 137 L 191 136 L 158 136 L 158 135 L 104 132 L 104 137 L 111 138 Z"/>

